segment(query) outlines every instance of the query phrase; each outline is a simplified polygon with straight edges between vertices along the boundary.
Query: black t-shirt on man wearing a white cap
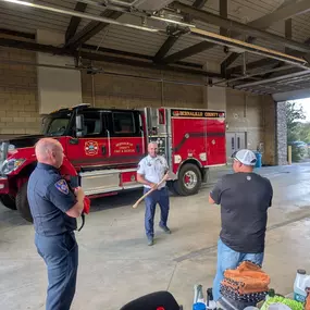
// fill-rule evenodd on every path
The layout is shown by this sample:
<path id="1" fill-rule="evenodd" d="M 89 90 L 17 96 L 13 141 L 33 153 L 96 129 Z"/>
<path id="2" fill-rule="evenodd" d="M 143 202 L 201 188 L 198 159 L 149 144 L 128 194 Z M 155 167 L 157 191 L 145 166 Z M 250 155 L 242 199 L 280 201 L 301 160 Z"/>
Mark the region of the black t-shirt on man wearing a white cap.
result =
<path id="1" fill-rule="evenodd" d="M 270 181 L 256 173 L 227 174 L 210 195 L 221 204 L 221 240 L 237 252 L 263 252 L 268 208 L 273 197 Z"/>

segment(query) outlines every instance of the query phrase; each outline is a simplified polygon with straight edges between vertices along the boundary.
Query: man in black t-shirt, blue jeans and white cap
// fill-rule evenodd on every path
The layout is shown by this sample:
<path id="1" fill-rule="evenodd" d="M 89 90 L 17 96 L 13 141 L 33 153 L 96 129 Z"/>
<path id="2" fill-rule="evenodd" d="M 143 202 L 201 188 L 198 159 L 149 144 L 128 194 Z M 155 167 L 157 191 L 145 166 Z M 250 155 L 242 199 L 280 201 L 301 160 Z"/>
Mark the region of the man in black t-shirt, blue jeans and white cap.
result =
<path id="1" fill-rule="evenodd" d="M 257 162 L 250 150 L 233 154 L 234 174 L 224 175 L 209 196 L 210 203 L 221 204 L 222 231 L 218 241 L 218 268 L 213 298 L 221 297 L 224 271 L 248 260 L 262 264 L 268 208 L 273 189 L 268 178 L 253 173 Z"/>

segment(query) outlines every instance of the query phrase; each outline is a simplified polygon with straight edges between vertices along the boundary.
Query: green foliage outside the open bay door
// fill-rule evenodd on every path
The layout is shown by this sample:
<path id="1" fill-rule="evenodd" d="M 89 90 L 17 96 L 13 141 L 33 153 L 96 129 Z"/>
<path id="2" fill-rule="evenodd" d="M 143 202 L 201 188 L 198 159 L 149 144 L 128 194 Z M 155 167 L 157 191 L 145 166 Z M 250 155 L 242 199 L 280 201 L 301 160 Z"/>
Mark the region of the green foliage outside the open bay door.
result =
<path id="1" fill-rule="evenodd" d="M 286 124 L 287 124 L 287 145 L 294 141 L 310 142 L 310 123 L 301 123 L 306 120 L 302 107 L 298 107 L 296 102 L 286 103 Z M 292 145 L 292 160 L 294 162 L 307 156 L 307 149 L 298 148 Z"/>

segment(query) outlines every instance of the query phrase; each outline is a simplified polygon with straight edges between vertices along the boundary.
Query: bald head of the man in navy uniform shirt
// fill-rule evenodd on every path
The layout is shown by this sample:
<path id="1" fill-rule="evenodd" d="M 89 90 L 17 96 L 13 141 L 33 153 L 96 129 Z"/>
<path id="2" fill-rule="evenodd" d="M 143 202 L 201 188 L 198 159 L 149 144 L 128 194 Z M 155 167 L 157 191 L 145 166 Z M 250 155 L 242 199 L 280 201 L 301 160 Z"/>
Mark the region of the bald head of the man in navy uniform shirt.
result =
<path id="1" fill-rule="evenodd" d="M 38 162 L 60 168 L 63 162 L 62 145 L 52 138 L 42 138 L 36 144 Z"/>

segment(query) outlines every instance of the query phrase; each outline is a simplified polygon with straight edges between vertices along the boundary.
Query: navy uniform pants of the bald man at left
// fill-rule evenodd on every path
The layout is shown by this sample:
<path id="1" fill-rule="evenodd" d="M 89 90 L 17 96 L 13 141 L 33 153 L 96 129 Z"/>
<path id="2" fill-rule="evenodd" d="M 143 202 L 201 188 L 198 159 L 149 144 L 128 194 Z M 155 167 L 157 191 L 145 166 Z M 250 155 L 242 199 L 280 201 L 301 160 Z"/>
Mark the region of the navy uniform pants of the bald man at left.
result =
<path id="1" fill-rule="evenodd" d="M 48 270 L 46 310 L 69 310 L 75 294 L 78 265 L 74 233 L 51 237 L 36 234 L 35 244 Z"/>

